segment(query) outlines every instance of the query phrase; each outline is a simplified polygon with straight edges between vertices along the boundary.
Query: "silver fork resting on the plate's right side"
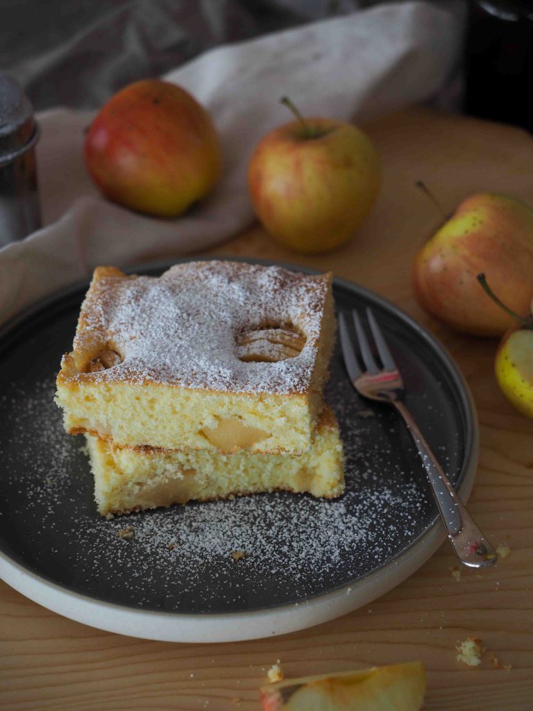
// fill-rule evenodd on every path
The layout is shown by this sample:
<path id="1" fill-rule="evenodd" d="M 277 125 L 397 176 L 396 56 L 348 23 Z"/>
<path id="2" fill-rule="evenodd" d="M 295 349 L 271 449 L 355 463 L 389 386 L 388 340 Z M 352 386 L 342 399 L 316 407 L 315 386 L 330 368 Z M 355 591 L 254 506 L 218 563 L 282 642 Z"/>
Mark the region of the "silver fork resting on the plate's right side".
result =
<path id="1" fill-rule="evenodd" d="M 389 402 L 390 405 L 394 405 L 404 418 L 407 429 L 411 432 L 416 449 L 418 449 L 421 456 L 424 469 L 426 469 L 438 513 L 441 514 L 448 540 L 451 542 L 453 552 L 455 552 L 458 560 L 464 565 L 473 568 L 492 565 L 497 560 L 495 550 L 481 533 L 465 506 L 463 506 L 451 481 L 444 474 L 435 455 L 429 448 L 429 444 L 414 421 L 411 412 L 403 402 L 404 382 L 402 375 L 399 373 L 396 363 L 394 363 L 374 314 L 370 309 L 367 309 L 368 323 L 374 337 L 379 360 L 381 360 L 380 366 L 376 363 L 357 311 L 352 311 L 352 319 L 356 341 L 359 346 L 358 349 L 350 336 L 345 314 L 340 314 L 339 316 L 340 344 L 343 348 L 346 370 L 353 387 L 363 397 L 368 397 L 370 400 L 377 400 L 378 402 Z M 366 370 L 362 370 L 360 367 L 357 350 Z"/>

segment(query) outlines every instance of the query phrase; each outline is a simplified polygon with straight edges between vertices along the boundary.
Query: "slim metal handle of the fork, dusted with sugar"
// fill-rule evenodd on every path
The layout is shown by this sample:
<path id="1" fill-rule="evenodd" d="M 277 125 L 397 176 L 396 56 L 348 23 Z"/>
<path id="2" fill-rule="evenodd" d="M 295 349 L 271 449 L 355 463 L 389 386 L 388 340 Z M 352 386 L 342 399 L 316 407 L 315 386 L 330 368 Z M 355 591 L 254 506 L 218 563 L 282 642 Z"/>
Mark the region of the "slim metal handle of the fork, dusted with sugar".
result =
<path id="1" fill-rule="evenodd" d="M 461 563 L 469 567 L 480 568 L 492 565 L 497 560 L 494 548 L 481 533 L 465 506 L 463 506 L 458 493 L 453 488 L 448 476 L 444 474 L 440 464 L 438 464 L 411 412 L 400 400 L 392 400 L 392 403 L 404 418 L 407 429 L 411 432 L 416 444 L 416 449 L 419 451 L 435 497 L 438 513 L 441 514 L 453 552 L 455 552 Z"/>

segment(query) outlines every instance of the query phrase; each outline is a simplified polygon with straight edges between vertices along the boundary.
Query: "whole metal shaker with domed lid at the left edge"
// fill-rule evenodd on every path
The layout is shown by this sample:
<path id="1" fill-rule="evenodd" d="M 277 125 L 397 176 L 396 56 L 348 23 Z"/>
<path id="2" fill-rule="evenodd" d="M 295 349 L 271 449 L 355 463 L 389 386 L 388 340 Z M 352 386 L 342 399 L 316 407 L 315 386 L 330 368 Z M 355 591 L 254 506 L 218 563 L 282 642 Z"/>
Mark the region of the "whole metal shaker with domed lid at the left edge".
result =
<path id="1" fill-rule="evenodd" d="M 33 108 L 13 77 L 0 72 L 0 247 L 41 227 Z"/>

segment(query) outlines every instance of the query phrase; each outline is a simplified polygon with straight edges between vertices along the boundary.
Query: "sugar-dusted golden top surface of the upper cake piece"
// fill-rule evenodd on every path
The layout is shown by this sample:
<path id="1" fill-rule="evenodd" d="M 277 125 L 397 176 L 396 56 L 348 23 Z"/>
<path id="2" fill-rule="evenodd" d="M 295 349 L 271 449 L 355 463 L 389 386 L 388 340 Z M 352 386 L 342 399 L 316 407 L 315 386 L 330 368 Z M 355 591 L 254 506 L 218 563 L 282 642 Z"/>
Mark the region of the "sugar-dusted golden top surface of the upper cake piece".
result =
<path id="1" fill-rule="evenodd" d="M 74 341 L 79 377 L 305 392 L 329 289 L 328 275 L 241 262 L 177 264 L 161 277 L 99 267 Z"/>

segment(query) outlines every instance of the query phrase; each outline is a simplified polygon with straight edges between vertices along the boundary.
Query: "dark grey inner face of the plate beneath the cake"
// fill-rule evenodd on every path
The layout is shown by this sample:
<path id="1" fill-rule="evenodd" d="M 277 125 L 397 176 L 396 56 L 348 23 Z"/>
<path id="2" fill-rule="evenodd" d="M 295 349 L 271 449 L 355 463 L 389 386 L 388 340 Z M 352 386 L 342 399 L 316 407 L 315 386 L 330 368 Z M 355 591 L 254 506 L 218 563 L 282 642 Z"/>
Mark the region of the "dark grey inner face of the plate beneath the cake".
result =
<path id="1" fill-rule="evenodd" d="M 345 443 L 343 498 L 274 493 L 99 518 L 83 439 L 63 432 L 53 403 L 86 289 L 57 294 L 0 331 L 0 552 L 20 575 L 122 609 L 259 611 L 356 584 L 434 527 L 436 507 L 407 430 L 394 411 L 355 395 L 338 350 L 326 399 Z M 340 279 L 334 293 L 338 309 L 375 310 L 408 405 L 461 486 L 475 461 L 475 420 L 453 362 L 379 296 Z M 127 527 L 131 538 L 120 538 Z M 235 550 L 246 557 L 235 562 Z"/>

